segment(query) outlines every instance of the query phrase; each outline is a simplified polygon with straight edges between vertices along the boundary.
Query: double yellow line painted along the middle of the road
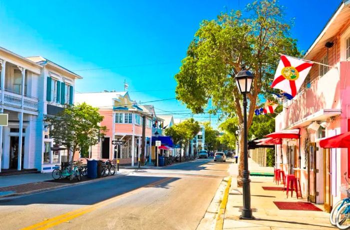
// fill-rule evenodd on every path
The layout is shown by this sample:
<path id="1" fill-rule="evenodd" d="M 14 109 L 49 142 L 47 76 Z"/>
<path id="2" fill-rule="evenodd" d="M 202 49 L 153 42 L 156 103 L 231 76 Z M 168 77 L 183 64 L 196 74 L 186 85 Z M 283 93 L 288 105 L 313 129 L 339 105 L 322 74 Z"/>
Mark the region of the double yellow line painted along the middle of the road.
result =
<path id="1" fill-rule="evenodd" d="M 126 197 L 126 196 L 129 196 L 129 195 L 132 195 L 132 194 L 134 194 L 136 192 L 139 192 L 139 191 L 145 189 L 146 187 L 158 185 L 158 184 L 163 183 L 165 181 L 168 181 L 168 180 L 170 180 L 172 178 L 173 177 L 165 177 L 165 178 L 160 179 L 158 181 L 146 184 L 143 187 L 136 188 L 134 190 L 131 190 L 131 191 L 128 191 L 126 193 L 114 196 L 112 198 L 100 201 L 98 203 L 94 203 L 94 204 L 91 204 L 91 205 L 88 205 L 88 206 L 85 206 L 85 207 L 81 207 L 81 208 L 78 208 L 76 210 L 69 211 L 69 212 L 63 213 L 61 215 L 57 215 L 57 216 L 55 216 L 53 218 L 50 218 L 50 219 L 47 219 L 47 220 L 35 223 L 35 224 L 30 225 L 28 227 L 24 227 L 24 228 L 22 228 L 22 230 L 47 229 L 49 227 L 58 225 L 58 224 L 60 224 L 62 222 L 71 220 L 71 219 L 73 219 L 75 217 L 78 217 L 80 215 L 83 215 L 83 214 L 86 214 L 88 212 L 91 212 L 91 211 L 93 211 L 94 209 L 96 209 L 98 207 L 106 206 L 106 205 L 116 201 L 117 199 L 120 199 L 122 197 Z"/>

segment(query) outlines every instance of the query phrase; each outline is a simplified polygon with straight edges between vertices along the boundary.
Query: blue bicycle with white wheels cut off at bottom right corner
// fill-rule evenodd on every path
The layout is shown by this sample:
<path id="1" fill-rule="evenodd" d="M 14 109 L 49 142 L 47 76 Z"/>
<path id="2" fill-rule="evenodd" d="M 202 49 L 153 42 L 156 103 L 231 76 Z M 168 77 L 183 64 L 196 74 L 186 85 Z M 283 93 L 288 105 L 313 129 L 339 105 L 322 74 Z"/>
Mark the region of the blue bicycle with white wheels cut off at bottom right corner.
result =
<path id="1" fill-rule="evenodd" d="M 331 211 L 330 217 L 329 217 L 329 220 L 333 221 L 334 212 L 336 213 L 334 222 L 339 229 L 350 228 L 350 188 L 348 188 L 348 185 L 350 185 L 350 183 L 346 178 L 346 172 L 344 173 L 344 178 L 347 184 L 342 184 L 340 186 L 340 192 L 345 193 L 347 197 L 338 201 L 334 205 L 334 208 L 333 208 L 334 211 L 333 210 Z M 330 223 L 333 224 L 332 222 Z"/>

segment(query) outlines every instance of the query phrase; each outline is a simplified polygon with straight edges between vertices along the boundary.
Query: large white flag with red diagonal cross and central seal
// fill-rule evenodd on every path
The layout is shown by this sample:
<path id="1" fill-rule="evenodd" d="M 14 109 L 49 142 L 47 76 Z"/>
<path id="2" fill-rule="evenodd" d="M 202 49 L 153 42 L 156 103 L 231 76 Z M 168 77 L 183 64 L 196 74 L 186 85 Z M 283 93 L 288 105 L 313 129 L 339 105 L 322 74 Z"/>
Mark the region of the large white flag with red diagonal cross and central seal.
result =
<path id="1" fill-rule="evenodd" d="M 271 88 L 281 89 L 294 97 L 311 66 L 310 62 L 281 55 Z"/>

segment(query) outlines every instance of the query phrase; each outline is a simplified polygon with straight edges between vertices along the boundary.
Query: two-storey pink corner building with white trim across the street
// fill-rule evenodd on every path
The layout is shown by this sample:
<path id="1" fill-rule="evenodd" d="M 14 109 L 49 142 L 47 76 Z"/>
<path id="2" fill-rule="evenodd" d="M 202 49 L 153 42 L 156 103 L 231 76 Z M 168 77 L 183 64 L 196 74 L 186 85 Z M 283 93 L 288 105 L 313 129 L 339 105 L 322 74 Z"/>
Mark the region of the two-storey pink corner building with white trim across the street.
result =
<path id="1" fill-rule="evenodd" d="M 120 164 L 137 162 L 141 153 L 142 120 L 145 120 L 144 156 L 149 157 L 151 150 L 152 124 L 155 117 L 151 105 L 137 105 L 127 92 L 76 93 L 77 103 L 86 102 L 99 108 L 104 116 L 102 126 L 107 127 L 104 138 L 90 147 L 90 158 L 115 159 Z M 112 140 L 123 141 L 122 145 L 113 145 Z"/>

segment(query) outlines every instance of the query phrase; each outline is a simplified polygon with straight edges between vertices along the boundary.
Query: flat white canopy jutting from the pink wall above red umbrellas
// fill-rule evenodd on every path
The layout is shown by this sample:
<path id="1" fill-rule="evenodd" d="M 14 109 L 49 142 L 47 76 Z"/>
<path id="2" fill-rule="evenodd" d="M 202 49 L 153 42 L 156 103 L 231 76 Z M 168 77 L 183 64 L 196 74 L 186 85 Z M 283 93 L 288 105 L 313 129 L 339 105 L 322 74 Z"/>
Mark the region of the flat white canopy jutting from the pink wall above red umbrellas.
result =
<path id="1" fill-rule="evenodd" d="M 313 121 L 325 121 L 327 118 L 331 116 L 340 115 L 340 113 L 341 113 L 341 109 L 339 108 L 324 108 L 289 125 L 285 129 L 305 127 L 305 126 L 308 126 Z"/>

